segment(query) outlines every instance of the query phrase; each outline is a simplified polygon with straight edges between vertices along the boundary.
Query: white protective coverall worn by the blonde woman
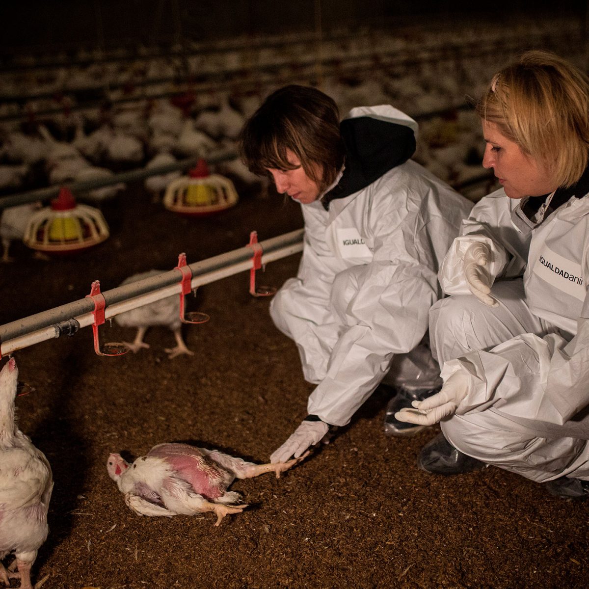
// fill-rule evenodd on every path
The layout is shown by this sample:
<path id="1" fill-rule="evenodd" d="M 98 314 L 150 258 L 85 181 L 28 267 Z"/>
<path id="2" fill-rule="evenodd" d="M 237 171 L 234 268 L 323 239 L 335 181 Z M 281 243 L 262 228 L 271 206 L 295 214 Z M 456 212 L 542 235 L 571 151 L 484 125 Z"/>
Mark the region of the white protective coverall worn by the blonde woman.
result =
<path id="1" fill-rule="evenodd" d="M 468 375 L 468 393 L 441 423 L 446 439 L 537 482 L 589 479 L 588 192 L 586 171 L 527 231 L 512 223 L 522 203 L 502 188 L 479 201 L 439 273 L 454 296 L 430 313 L 442 378 Z M 462 259 L 472 241 L 491 248 L 497 307 L 469 294 Z"/>

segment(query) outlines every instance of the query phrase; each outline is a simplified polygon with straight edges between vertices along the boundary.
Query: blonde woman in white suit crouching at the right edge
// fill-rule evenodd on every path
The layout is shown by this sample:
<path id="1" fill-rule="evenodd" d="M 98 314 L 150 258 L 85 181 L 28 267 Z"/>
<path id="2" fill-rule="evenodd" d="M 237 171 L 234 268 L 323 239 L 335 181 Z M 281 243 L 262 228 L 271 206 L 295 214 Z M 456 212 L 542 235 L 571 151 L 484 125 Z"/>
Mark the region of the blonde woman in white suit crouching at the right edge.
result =
<path id="1" fill-rule="evenodd" d="M 396 414 L 442 434 L 419 456 L 438 474 L 499 466 L 561 497 L 589 497 L 589 84 L 530 51 L 477 105 L 483 198 L 439 272 L 430 312 L 444 386 Z"/>

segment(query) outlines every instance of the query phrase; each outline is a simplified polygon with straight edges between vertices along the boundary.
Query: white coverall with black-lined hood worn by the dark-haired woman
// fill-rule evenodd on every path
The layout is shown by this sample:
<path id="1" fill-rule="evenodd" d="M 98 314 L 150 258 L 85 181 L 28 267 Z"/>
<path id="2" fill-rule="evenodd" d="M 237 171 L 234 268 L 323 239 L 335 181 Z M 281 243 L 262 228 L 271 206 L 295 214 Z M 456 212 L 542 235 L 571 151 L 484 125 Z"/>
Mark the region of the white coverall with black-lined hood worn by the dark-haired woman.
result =
<path id="1" fill-rule="evenodd" d="M 337 426 L 379 385 L 393 355 L 423 339 L 442 294 L 439 264 L 472 207 L 408 160 L 417 124 L 401 111 L 355 108 L 341 130 L 343 176 L 327 198 L 302 205 L 299 272 L 270 305 L 297 344 L 305 379 L 317 384 L 309 414 Z M 399 164 L 390 163 L 395 150 Z"/>

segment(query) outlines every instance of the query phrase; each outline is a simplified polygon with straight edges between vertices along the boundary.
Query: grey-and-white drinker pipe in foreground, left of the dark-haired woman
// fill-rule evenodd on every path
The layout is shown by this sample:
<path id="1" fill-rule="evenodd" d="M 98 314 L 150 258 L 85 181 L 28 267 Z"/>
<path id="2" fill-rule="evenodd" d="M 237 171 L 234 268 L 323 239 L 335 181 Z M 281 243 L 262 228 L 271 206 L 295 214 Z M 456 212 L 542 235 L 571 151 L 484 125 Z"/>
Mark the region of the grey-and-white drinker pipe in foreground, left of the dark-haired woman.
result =
<path id="1" fill-rule="evenodd" d="M 261 263 L 267 264 L 301 252 L 305 230 L 297 229 L 260 241 Z M 233 276 L 252 268 L 256 250 L 241 247 L 200 262 L 188 264 L 192 272 L 191 289 Z M 105 319 L 182 292 L 181 273 L 176 269 L 103 292 Z M 89 297 L 67 303 L 0 326 L 0 356 L 28 348 L 61 335 L 73 335 L 81 327 L 94 324 L 94 302 Z"/>

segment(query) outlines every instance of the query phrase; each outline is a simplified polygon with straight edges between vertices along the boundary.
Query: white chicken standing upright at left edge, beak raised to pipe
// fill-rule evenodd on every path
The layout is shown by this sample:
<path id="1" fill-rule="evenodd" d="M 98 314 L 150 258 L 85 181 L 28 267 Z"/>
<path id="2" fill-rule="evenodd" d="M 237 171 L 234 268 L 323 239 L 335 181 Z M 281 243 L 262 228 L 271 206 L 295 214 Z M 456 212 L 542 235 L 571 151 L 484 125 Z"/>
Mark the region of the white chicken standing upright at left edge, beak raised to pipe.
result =
<path id="1" fill-rule="evenodd" d="M 0 372 L 0 561 L 14 553 L 18 572 L 0 562 L 0 581 L 9 585 L 11 577 L 20 577 L 21 589 L 32 589 L 31 567 L 49 533 L 53 479 L 45 455 L 16 426 L 17 385 L 18 369 L 11 358 Z"/>

